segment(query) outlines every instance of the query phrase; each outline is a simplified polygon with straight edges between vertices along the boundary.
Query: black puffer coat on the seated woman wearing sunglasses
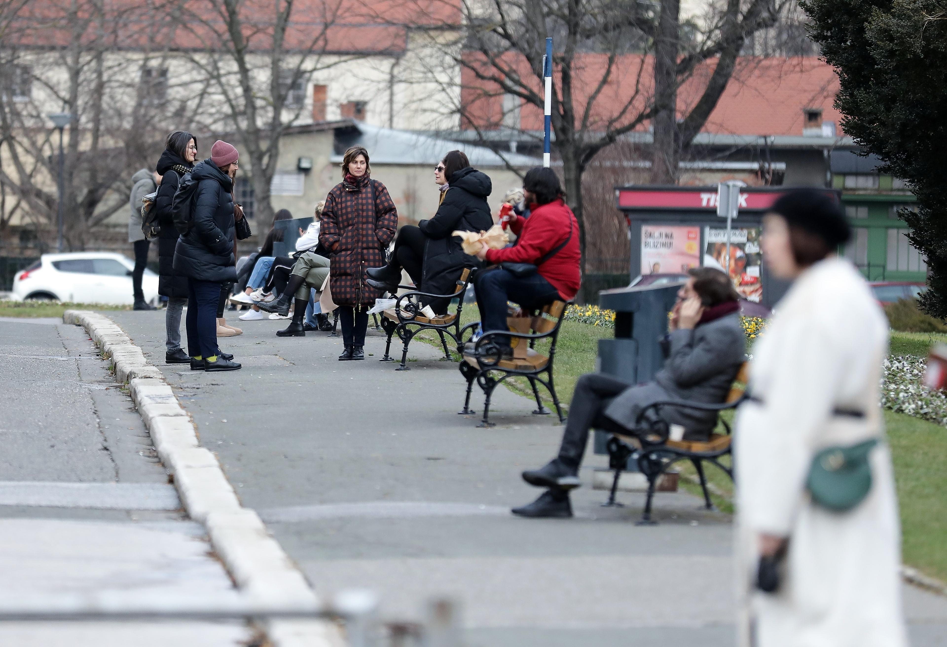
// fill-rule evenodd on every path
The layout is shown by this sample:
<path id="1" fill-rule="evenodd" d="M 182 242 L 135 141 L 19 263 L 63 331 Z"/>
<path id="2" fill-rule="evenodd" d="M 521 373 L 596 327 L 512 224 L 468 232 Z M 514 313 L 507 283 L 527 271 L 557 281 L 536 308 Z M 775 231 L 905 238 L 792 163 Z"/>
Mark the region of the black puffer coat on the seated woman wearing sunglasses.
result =
<path id="1" fill-rule="evenodd" d="M 420 231 L 427 236 L 420 289 L 433 294 L 450 294 L 456 289 L 460 272 L 476 265 L 476 257 L 464 254 L 460 237 L 451 236 L 451 232 L 480 232 L 491 228 L 493 218 L 487 196 L 492 188 L 486 173 L 472 166 L 461 168 L 451 178 L 438 213 L 418 223 Z M 448 303 L 442 299 L 431 307 L 435 312 L 442 312 Z"/>

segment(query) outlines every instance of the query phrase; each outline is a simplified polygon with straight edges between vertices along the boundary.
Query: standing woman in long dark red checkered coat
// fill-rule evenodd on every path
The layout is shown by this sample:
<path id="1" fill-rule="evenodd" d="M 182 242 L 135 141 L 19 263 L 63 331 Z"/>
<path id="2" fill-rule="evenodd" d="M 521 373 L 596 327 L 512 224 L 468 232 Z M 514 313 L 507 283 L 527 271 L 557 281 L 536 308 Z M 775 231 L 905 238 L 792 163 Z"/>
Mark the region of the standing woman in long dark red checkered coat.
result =
<path id="1" fill-rule="evenodd" d="M 345 350 L 340 360 L 365 359 L 368 308 L 382 296 L 366 284 L 366 270 L 384 265 L 398 211 L 384 184 L 370 177 L 368 151 L 352 147 L 342 160 L 343 181 L 326 198 L 319 242 L 329 251 L 332 301 L 339 306 Z"/>

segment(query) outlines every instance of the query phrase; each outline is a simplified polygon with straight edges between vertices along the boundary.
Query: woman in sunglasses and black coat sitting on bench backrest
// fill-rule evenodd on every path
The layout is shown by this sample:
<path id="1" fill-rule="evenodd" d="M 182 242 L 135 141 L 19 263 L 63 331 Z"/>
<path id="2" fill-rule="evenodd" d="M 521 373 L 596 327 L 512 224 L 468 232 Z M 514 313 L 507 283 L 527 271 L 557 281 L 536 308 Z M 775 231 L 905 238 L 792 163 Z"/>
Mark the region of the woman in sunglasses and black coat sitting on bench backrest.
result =
<path id="1" fill-rule="evenodd" d="M 438 213 L 432 219 L 421 220 L 417 227 L 404 225 L 398 231 L 387 265 L 368 270 L 368 285 L 394 294 L 404 269 L 418 289 L 448 294 L 454 291 L 463 269 L 476 265 L 476 258 L 464 254 L 460 237 L 452 233 L 491 228 L 493 217 L 487 204 L 492 189 L 490 176 L 471 166 L 462 151 L 452 150 L 435 167 L 434 181 L 440 185 Z M 428 305 L 442 314 L 450 300 L 438 299 Z"/>

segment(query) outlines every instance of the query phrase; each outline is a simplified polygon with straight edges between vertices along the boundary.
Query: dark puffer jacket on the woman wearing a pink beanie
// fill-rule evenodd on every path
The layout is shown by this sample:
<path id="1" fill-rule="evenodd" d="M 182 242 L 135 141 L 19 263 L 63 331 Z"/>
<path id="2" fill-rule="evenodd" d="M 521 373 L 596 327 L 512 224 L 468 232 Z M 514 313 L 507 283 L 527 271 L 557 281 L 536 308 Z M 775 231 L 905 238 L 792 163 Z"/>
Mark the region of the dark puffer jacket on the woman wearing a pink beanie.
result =
<path id="1" fill-rule="evenodd" d="M 233 181 L 209 159 L 194 166 L 197 192 L 188 236 L 178 238 L 174 269 L 190 279 L 236 283 Z"/>

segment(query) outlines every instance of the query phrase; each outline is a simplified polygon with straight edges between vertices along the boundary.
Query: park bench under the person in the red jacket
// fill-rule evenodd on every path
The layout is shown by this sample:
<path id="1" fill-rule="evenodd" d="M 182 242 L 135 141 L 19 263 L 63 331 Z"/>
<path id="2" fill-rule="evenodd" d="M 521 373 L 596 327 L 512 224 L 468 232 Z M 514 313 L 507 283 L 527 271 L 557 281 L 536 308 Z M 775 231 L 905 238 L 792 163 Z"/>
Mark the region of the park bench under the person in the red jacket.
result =
<path id="1" fill-rule="evenodd" d="M 559 396 L 556 394 L 552 380 L 552 365 L 556 358 L 556 341 L 559 339 L 565 310 L 569 305 L 564 301 L 555 301 L 541 310 L 530 313 L 528 318 L 522 318 L 528 319 L 528 323 L 522 326 L 521 330 L 527 329 L 529 332 L 518 331 L 511 326 L 509 330 L 485 332 L 479 340 L 464 344 L 460 373 L 467 379 L 467 397 L 464 400 L 464 409 L 460 411 L 462 415 L 474 413 L 470 409 L 470 403 L 471 391 L 476 382 L 486 396 L 483 405 L 483 420 L 477 427 L 492 427 L 490 399 L 493 390 L 509 377 L 523 376 L 529 380 L 533 395 L 536 397 L 537 409 L 533 411 L 533 414 L 547 415 L 550 412 L 543 406 L 543 401 L 540 399 L 539 390 L 536 387 L 536 382 L 539 382 L 552 395 L 552 402 L 556 406 L 559 420 L 563 422 L 563 408 L 559 404 Z M 461 330 L 461 339 L 467 331 L 473 332 L 476 325 L 478 323 L 465 325 Z M 509 335 L 510 342 L 514 346 L 514 355 L 521 357 L 501 359 L 499 348 L 492 341 L 497 335 Z M 548 356 L 541 355 L 535 350 L 536 342 L 541 340 L 550 341 Z M 523 346 L 526 346 L 525 353 L 522 352 Z M 516 352 L 517 348 L 520 348 L 520 352 Z M 495 374 L 502 375 L 494 377 Z M 542 377 L 544 374 L 545 379 Z"/>

